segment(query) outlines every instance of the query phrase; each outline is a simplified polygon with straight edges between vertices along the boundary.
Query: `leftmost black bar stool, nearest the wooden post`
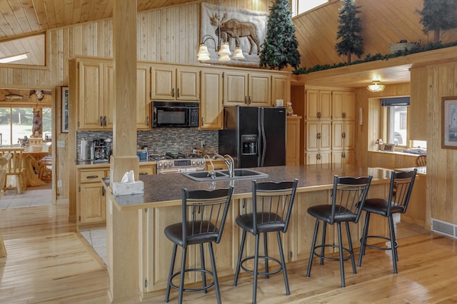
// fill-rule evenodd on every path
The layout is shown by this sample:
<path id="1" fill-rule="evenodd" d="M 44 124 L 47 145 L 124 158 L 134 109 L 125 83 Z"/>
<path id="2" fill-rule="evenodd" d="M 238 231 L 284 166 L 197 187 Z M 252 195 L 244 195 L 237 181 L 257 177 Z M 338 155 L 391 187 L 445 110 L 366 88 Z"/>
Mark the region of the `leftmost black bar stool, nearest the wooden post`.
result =
<path id="1" fill-rule="evenodd" d="M 204 293 L 206 293 L 206 290 L 214 285 L 216 288 L 217 303 L 221 303 L 213 243 L 217 244 L 221 241 L 232 193 L 232 186 L 214 191 L 187 191 L 186 189 L 182 189 L 183 221 L 182 223 L 176 223 L 165 228 L 166 237 L 174 243 L 165 302 L 169 301 L 171 287 L 179 290 L 178 303 L 181 304 L 184 291 L 204 290 Z M 204 243 L 208 243 L 212 271 L 205 268 Z M 201 267 L 186 269 L 187 246 L 197 244 L 200 245 Z M 183 248 L 181 270 L 173 273 L 178 245 Z M 184 274 L 190 271 L 201 273 L 203 281 L 201 287 L 184 288 Z M 212 283 L 206 283 L 206 274 L 213 276 Z M 180 279 L 179 285 L 172 283 L 173 278 L 177 275 L 179 275 Z"/>

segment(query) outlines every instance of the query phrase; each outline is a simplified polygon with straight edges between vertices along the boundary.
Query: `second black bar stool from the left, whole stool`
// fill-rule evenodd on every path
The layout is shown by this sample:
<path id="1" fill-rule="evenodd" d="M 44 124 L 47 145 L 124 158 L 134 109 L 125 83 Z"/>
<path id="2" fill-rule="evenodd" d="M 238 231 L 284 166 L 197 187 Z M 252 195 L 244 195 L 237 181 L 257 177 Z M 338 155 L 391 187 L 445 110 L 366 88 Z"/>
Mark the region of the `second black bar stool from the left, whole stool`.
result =
<path id="1" fill-rule="evenodd" d="M 256 303 L 258 275 L 265 275 L 266 278 L 268 278 L 268 275 L 278 273 L 282 270 L 284 285 L 286 285 L 286 295 L 291 294 L 288 288 L 286 260 L 284 259 L 281 235 L 279 233 L 286 233 L 287 231 L 288 222 L 291 218 L 293 199 L 295 198 L 297 183 L 297 179 L 294 179 L 293 181 L 283 181 L 280 183 L 257 183 L 256 181 L 252 181 L 252 212 L 236 217 L 235 221 L 238 226 L 243 229 L 243 234 L 241 236 L 241 245 L 238 253 L 238 263 L 236 264 L 233 286 L 236 286 L 238 283 L 240 268 L 247 273 L 253 274 L 252 303 Z M 256 237 L 254 255 L 242 258 L 246 233 L 248 232 L 252 233 Z M 277 258 L 268 256 L 268 243 L 266 238 L 266 233 L 268 232 L 276 232 L 281 261 Z M 263 233 L 263 255 L 258 253 L 258 241 L 261 233 Z M 253 270 L 248 269 L 243 265 L 243 263 L 247 260 L 252 259 L 254 260 Z M 264 272 L 258 272 L 258 259 L 263 259 L 265 261 Z M 278 263 L 279 268 L 276 270 L 270 270 L 268 267 L 268 260 Z"/>

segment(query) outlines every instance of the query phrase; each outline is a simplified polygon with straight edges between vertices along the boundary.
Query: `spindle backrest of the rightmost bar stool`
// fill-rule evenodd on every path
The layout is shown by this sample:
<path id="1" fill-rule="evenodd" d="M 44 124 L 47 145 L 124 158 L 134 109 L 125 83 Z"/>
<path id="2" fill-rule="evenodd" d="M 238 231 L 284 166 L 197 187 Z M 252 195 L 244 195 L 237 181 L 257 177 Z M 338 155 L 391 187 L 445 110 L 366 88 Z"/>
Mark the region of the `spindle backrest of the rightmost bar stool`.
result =
<path id="1" fill-rule="evenodd" d="M 405 213 L 408 208 L 409 198 L 413 191 L 414 181 L 416 179 L 417 169 L 414 168 L 408 172 L 392 172 L 391 186 L 388 192 L 387 214 L 391 214 L 393 208 L 395 213 Z"/>

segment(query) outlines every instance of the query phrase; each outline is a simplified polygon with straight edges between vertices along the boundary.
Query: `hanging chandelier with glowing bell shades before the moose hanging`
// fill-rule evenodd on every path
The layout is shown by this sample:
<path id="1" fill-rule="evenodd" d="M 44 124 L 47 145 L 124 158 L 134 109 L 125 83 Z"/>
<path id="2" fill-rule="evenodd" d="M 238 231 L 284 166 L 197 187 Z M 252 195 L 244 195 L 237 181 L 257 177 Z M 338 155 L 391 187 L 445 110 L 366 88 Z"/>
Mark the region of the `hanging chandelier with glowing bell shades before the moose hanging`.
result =
<path id="1" fill-rule="evenodd" d="M 211 24 L 217 26 L 217 32 L 219 37 L 218 42 L 216 44 L 216 40 L 213 38 L 213 36 L 209 34 L 206 34 L 203 37 L 201 37 L 201 43 L 199 44 L 199 53 L 197 53 L 197 60 L 209 61 L 211 59 L 209 57 L 210 54 L 208 51 L 208 47 L 206 46 L 206 41 L 212 40 L 214 42 L 214 49 L 217 52 L 217 54 L 219 54 L 219 61 L 230 61 L 231 51 L 229 48 L 229 42 L 227 41 L 227 34 L 225 34 L 225 40 L 221 37 L 221 0 L 219 0 L 218 5 L 217 23 L 214 19 L 211 19 Z M 243 51 L 239 46 L 235 48 L 233 59 L 244 59 Z"/>

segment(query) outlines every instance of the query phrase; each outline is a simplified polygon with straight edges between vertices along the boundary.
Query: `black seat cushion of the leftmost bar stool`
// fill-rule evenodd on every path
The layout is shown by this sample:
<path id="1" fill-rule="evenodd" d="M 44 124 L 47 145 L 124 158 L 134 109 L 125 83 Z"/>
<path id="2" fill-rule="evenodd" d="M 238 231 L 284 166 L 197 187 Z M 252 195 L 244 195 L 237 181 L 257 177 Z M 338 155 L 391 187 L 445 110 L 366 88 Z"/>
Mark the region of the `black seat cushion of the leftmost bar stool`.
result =
<path id="1" fill-rule="evenodd" d="M 188 231 L 200 231 L 206 230 L 209 233 L 201 233 L 196 235 L 189 235 L 187 238 L 188 245 L 207 243 L 207 242 L 216 242 L 219 235 L 219 230 L 216 229 L 213 223 L 208 221 L 195 221 L 194 223 L 187 223 Z M 176 245 L 183 245 L 183 224 L 176 223 L 170 226 L 167 226 L 164 230 L 165 236 L 169 238 Z"/>

